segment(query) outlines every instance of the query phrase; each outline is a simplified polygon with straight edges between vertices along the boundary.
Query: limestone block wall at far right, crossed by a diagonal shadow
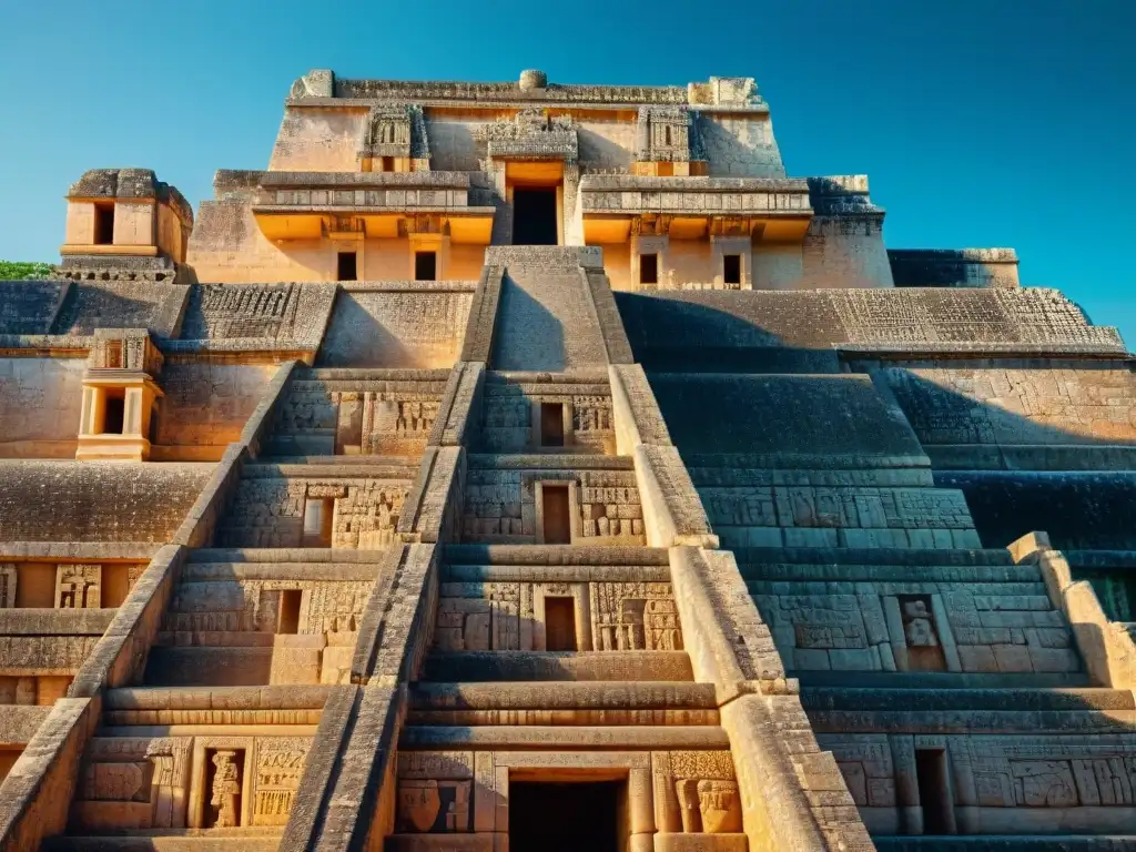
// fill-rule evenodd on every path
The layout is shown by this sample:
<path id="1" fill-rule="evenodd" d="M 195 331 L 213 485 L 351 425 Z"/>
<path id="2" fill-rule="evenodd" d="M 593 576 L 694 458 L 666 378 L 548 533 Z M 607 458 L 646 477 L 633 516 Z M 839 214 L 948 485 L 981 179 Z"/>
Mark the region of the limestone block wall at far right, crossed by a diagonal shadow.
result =
<path id="1" fill-rule="evenodd" d="M 1136 381 L 1127 364 L 914 361 L 878 375 L 925 445 L 1136 441 Z"/>

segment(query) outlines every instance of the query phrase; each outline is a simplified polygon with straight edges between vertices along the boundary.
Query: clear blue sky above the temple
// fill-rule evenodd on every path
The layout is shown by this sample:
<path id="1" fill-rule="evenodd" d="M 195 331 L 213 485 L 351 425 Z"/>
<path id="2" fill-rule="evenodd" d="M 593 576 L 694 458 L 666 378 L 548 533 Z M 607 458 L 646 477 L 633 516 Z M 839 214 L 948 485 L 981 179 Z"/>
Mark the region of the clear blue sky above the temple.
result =
<path id="1" fill-rule="evenodd" d="M 0 0 L 0 258 L 57 259 L 61 197 L 87 168 L 154 168 L 194 206 L 217 168 L 264 168 L 309 68 L 745 75 L 792 176 L 870 176 L 888 247 L 1013 247 L 1025 283 L 1136 349 L 1131 0 Z"/>

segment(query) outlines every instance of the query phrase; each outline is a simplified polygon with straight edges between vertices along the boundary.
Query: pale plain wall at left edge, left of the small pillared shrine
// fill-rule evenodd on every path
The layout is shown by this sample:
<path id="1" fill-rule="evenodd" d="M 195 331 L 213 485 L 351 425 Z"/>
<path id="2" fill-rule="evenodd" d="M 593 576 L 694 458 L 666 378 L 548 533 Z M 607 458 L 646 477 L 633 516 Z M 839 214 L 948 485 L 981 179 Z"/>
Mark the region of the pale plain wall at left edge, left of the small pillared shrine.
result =
<path id="1" fill-rule="evenodd" d="M 0 358 L 0 458 L 75 458 L 83 358 Z"/>

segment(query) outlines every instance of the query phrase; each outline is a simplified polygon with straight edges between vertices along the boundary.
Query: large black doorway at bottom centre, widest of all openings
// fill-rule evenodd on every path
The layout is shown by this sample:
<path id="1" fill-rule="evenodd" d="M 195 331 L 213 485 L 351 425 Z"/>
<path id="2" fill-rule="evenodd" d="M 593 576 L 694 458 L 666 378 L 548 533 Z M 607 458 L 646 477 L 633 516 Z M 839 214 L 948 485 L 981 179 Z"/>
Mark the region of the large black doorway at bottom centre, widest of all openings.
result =
<path id="1" fill-rule="evenodd" d="M 509 782 L 509 852 L 621 852 L 623 782 Z"/>

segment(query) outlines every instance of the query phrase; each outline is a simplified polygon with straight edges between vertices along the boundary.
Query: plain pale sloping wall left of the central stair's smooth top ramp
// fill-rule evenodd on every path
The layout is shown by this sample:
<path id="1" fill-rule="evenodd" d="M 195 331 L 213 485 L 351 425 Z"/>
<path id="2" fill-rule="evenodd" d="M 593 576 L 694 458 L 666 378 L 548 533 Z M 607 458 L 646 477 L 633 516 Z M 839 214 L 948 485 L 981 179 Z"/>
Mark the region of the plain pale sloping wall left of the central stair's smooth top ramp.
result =
<path id="1" fill-rule="evenodd" d="M 434 369 L 458 360 L 473 284 L 408 282 L 340 291 L 319 350 L 321 367 Z"/>

